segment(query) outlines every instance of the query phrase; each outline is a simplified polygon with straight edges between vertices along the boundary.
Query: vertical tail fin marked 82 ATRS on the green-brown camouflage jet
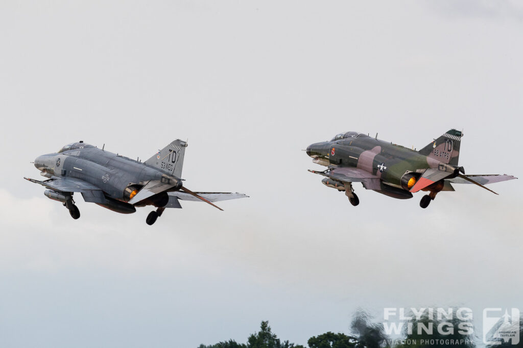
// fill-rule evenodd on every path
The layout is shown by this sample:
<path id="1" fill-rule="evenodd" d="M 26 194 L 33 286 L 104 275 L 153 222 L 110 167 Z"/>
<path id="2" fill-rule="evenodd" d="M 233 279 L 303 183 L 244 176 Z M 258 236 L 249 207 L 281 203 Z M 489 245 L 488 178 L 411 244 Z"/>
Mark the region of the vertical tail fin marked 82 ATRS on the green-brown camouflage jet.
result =
<path id="1" fill-rule="evenodd" d="M 451 129 L 418 152 L 443 163 L 458 165 L 462 136 L 461 131 Z"/>

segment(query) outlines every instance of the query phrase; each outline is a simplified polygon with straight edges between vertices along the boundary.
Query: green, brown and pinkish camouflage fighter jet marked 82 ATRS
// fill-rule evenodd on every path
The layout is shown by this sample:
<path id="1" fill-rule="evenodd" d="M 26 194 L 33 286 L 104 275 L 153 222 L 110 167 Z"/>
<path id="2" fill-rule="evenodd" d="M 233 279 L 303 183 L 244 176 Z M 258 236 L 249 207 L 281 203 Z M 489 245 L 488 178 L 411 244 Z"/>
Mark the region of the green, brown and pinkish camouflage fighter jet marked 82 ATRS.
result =
<path id="1" fill-rule="evenodd" d="M 454 191 L 451 184 L 474 184 L 495 193 L 483 185 L 516 179 L 506 174 L 464 175 L 465 170 L 458 164 L 462 136 L 461 131 L 451 129 L 415 151 L 380 140 L 378 135 L 372 138 L 349 131 L 310 145 L 307 154 L 327 169 L 309 171 L 324 176 L 324 185 L 345 191 L 353 206 L 359 204 L 353 189 L 357 182 L 368 190 L 399 199 L 426 191 L 419 206 L 427 208 L 439 191 Z"/>

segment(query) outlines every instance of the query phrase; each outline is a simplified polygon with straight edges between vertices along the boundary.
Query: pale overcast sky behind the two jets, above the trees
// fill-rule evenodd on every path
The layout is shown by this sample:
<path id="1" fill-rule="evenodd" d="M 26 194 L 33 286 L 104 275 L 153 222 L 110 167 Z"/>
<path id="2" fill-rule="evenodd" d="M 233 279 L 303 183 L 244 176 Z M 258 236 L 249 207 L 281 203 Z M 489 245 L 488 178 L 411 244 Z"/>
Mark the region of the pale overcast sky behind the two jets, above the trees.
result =
<path id="1" fill-rule="evenodd" d="M 0 340 L 196 347 L 269 320 L 305 344 L 383 307 L 523 309 L 521 181 L 394 200 L 321 184 L 301 151 L 356 130 L 421 148 L 464 129 L 467 174 L 521 176 L 516 1 L 0 2 Z M 71 219 L 29 163 L 84 140 L 188 139 L 191 190 L 250 198 Z M 479 332 L 481 335 L 481 332 Z"/>

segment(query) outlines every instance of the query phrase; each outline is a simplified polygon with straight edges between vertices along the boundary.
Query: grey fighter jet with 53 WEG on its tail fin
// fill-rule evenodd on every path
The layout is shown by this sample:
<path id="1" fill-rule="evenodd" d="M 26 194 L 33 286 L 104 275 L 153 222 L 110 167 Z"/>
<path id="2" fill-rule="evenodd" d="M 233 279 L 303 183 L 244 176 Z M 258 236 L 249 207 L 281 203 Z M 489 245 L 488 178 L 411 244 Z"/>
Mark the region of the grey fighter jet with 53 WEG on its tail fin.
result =
<path id="1" fill-rule="evenodd" d="M 71 217 L 80 212 L 73 194 L 81 193 L 86 202 L 123 214 L 135 207 L 154 206 L 145 222 L 152 225 L 165 208 L 181 208 L 179 200 L 212 202 L 248 197 L 238 193 L 193 192 L 183 185 L 181 167 L 187 142 L 174 140 L 145 162 L 98 149 L 83 141 L 64 146 L 55 153 L 44 154 L 35 166 L 47 180 L 30 182 L 47 188 L 46 197 L 62 202 Z"/>

